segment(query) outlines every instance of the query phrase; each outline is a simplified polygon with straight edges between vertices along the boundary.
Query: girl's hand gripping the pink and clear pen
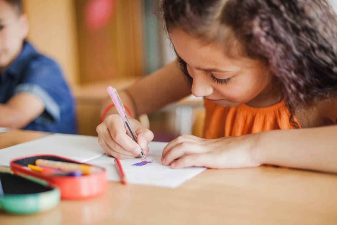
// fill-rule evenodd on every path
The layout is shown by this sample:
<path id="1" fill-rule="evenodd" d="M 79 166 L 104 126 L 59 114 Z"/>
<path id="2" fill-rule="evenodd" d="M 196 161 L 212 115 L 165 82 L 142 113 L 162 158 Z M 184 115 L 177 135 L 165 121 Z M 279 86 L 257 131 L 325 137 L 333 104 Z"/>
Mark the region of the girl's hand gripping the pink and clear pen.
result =
<path id="1" fill-rule="evenodd" d="M 142 149 L 145 155 L 148 154 L 153 133 L 136 119 L 129 118 L 129 122 L 137 135 L 137 143 L 127 135 L 123 119 L 118 114 L 107 116 L 97 126 L 98 143 L 108 156 L 131 159 L 139 157 Z"/>

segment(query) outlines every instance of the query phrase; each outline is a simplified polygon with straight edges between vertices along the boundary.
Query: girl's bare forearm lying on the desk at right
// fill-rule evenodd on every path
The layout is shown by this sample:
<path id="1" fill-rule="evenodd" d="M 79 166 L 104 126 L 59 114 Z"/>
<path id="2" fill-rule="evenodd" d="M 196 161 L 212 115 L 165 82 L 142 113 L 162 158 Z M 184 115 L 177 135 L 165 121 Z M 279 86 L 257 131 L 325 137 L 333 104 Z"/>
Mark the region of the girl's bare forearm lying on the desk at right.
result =
<path id="1" fill-rule="evenodd" d="M 337 173 L 337 125 L 254 136 L 253 157 L 262 164 Z"/>

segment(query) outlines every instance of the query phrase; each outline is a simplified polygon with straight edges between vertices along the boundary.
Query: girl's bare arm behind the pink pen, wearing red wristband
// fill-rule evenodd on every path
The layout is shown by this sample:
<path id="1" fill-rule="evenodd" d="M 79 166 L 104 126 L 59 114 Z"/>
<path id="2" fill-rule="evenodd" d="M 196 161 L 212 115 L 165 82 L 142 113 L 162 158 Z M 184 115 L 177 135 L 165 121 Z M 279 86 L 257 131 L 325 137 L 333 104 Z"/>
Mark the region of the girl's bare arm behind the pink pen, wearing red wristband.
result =
<path id="1" fill-rule="evenodd" d="M 133 117 L 150 113 L 191 94 L 191 86 L 180 70 L 177 61 L 144 77 L 128 88 L 119 91 L 119 96 Z M 110 97 L 102 105 L 102 110 L 112 104 Z M 117 113 L 110 109 L 105 116 Z"/>

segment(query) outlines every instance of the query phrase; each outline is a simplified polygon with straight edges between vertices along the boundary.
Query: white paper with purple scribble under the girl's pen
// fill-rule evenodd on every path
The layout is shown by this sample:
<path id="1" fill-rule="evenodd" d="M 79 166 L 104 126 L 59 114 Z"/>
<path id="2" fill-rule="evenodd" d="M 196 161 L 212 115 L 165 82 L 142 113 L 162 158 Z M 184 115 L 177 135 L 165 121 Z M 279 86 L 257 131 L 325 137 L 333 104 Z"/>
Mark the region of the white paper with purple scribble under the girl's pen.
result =
<path id="1" fill-rule="evenodd" d="M 120 160 L 126 180 L 132 184 L 154 185 L 165 188 L 176 188 L 188 179 L 204 171 L 204 167 L 191 167 L 184 169 L 172 169 L 170 166 L 161 164 L 161 153 L 166 146 L 166 142 L 150 142 L 150 151 L 146 159 L 152 161 L 143 166 L 132 166 L 139 163 L 142 158 Z M 119 181 L 114 158 L 107 155 L 100 156 L 96 159 L 87 161 L 87 163 L 104 167 L 108 172 L 108 179 Z"/>

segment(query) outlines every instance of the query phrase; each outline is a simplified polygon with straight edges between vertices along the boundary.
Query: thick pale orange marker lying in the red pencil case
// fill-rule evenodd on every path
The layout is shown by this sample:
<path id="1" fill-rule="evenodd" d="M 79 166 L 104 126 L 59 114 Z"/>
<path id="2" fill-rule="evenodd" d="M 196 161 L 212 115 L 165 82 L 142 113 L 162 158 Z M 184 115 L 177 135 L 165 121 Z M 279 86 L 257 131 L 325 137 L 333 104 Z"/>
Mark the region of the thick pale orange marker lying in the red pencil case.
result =
<path id="1" fill-rule="evenodd" d="M 60 161 L 53 160 L 44 160 L 38 159 L 35 161 L 35 164 L 38 166 L 49 167 L 53 169 L 63 170 L 65 172 L 74 172 L 76 170 L 80 170 L 83 175 L 88 175 L 92 173 L 100 172 L 101 169 L 95 166 L 80 164 L 80 163 L 66 163 Z"/>

